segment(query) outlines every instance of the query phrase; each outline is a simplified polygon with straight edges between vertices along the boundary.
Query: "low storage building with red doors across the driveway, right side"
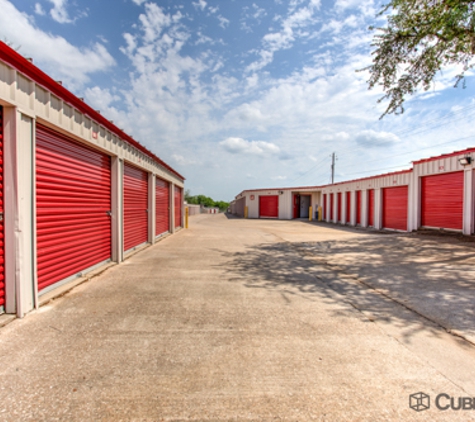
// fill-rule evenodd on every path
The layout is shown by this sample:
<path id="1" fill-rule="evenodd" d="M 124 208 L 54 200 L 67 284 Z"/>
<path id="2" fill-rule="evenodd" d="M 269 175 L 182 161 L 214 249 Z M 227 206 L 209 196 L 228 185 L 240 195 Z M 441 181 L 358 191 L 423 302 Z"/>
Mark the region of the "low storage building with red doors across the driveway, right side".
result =
<path id="1" fill-rule="evenodd" d="M 236 196 L 231 212 L 244 215 L 247 207 L 249 218 L 302 218 L 306 215 L 296 212 L 297 203 L 307 205 L 302 195 L 310 195 L 309 206 L 313 210 L 321 206 L 326 222 L 470 235 L 475 231 L 474 155 L 475 148 L 469 148 L 415 161 L 412 169 L 333 185 L 245 190 Z"/>

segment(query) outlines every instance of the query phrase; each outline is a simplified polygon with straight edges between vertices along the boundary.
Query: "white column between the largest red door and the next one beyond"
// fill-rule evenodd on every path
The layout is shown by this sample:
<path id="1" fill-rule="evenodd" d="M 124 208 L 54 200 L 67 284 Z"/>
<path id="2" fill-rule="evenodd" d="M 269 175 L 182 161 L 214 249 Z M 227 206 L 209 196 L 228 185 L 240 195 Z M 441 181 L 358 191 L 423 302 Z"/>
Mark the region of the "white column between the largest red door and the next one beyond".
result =
<path id="1" fill-rule="evenodd" d="M 112 261 L 124 260 L 124 161 L 112 157 Z"/>

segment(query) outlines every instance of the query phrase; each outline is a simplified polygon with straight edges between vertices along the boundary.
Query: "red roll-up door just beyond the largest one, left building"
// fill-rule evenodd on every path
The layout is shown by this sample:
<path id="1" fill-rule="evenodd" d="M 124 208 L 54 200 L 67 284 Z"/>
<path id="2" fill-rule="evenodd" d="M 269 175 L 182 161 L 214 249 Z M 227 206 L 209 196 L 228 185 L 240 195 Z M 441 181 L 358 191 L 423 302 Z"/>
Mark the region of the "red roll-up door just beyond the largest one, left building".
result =
<path id="1" fill-rule="evenodd" d="M 148 174 L 124 165 L 124 251 L 148 240 Z"/>

